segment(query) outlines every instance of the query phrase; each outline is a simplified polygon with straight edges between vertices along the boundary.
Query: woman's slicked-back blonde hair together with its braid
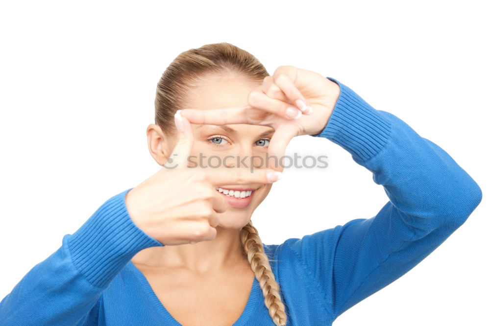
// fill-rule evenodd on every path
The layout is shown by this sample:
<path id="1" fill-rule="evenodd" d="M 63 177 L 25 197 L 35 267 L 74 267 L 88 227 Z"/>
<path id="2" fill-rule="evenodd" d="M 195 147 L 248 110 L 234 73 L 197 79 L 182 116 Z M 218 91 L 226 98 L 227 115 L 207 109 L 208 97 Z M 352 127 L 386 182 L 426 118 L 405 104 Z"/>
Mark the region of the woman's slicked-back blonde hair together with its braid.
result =
<path id="1" fill-rule="evenodd" d="M 180 53 L 157 84 L 155 124 L 166 134 L 176 132 L 173 115 L 177 110 L 185 108 L 189 92 L 210 74 L 233 74 L 244 77 L 251 83 L 262 82 L 269 76 L 265 67 L 252 54 L 226 42 L 207 44 Z M 277 326 L 286 325 L 285 306 L 281 300 L 279 285 L 252 221 L 240 230 L 240 241 L 243 254 L 260 283 L 270 318 Z"/>

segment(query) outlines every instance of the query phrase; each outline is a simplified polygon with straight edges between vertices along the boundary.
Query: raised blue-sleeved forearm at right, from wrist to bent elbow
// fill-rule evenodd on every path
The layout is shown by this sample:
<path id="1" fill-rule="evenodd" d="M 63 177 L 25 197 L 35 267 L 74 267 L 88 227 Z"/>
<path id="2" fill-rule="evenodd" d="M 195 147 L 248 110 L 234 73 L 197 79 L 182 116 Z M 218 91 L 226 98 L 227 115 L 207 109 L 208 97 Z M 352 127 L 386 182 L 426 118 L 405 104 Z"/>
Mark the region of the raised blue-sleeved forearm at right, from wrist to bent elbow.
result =
<path id="1" fill-rule="evenodd" d="M 466 171 L 398 117 L 375 110 L 343 84 L 341 92 L 328 124 L 314 136 L 346 149 L 356 163 L 373 173 L 374 182 L 384 186 L 392 203 L 404 213 L 463 222 L 482 197 Z M 438 222 L 444 221 L 432 223 Z M 428 223 L 428 228 L 432 224 L 420 223 Z"/>

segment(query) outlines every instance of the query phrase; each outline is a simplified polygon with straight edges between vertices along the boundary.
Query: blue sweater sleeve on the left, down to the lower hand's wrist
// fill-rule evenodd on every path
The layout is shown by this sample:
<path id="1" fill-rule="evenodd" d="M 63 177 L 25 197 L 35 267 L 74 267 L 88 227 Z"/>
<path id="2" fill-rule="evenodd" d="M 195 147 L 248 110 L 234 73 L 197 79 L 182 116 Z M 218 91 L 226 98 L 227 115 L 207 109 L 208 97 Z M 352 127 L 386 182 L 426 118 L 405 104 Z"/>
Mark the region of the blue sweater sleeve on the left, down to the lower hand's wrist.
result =
<path id="1" fill-rule="evenodd" d="M 0 303 L 2 326 L 88 325 L 100 294 L 139 251 L 162 243 L 130 218 L 127 189 L 102 204 L 61 247 L 35 265 Z M 90 325 L 92 325 L 90 324 Z"/>

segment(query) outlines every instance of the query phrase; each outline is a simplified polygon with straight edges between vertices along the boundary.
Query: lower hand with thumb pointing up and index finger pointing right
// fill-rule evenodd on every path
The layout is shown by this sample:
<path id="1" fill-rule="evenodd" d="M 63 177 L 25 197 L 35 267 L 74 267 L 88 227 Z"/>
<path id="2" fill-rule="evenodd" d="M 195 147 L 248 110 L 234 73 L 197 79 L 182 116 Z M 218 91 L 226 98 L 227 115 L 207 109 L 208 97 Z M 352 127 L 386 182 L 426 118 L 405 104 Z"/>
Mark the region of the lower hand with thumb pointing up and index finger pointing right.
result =
<path id="1" fill-rule="evenodd" d="M 143 232 L 163 245 L 213 240 L 218 213 L 228 208 L 220 185 L 270 184 L 280 172 L 273 169 L 188 167 L 194 142 L 191 124 L 176 115 L 178 139 L 167 164 L 126 193 L 129 216 Z M 269 176 L 269 178 L 268 178 Z M 215 186 L 216 185 L 216 186 Z"/>

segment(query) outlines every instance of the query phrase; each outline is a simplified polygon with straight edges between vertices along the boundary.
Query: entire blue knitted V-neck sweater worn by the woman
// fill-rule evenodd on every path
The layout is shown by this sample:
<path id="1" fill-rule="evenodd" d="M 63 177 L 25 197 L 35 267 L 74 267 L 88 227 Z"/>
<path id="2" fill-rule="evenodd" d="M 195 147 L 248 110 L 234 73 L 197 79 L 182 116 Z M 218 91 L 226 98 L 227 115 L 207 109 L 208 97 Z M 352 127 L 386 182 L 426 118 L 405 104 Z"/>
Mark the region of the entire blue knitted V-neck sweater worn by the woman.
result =
<path id="1" fill-rule="evenodd" d="M 375 110 L 334 78 L 340 97 L 314 137 L 347 150 L 389 198 L 371 218 L 265 245 L 288 326 L 327 326 L 433 252 L 478 206 L 482 191 L 444 150 L 398 117 Z M 130 259 L 163 246 L 111 197 L 0 303 L 0 324 L 180 325 Z M 189 313 L 192 313 L 191 311 Z M 273 326 L 257 279 L 234 326 Z"/>

